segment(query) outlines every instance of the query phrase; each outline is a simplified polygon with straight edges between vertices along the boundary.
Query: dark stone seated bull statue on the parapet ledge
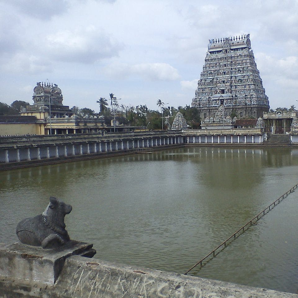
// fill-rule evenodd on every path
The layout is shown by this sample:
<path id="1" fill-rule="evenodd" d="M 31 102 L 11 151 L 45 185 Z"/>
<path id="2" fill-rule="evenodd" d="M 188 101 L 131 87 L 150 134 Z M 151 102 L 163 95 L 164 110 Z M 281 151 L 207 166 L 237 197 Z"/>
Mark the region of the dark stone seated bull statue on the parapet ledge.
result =
<path id="1" fill-rule="evenodd" d="M 65 230 L 64 217 L 72 210 L 71 205 L 50 197 L 50 203 L 42 214 L 20 221 L 16 234 L 20 242 L 43 248 L 55 248 L 70 240 Z"/>

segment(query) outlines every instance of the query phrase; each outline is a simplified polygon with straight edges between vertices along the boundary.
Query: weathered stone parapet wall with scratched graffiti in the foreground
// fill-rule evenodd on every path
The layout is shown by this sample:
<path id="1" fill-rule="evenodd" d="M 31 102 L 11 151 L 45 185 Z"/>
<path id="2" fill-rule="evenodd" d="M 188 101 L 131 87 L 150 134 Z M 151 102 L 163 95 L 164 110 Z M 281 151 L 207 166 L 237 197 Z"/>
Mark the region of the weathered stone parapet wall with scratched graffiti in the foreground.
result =
<path id="1" fill-rule="evenodd" d="M 38 280 L 22 277 L 17 269 L 18 259 L 11 251 L 0 255 L 0 298 L 298 298 L 298 295 L 262 288 L 246 287 L 228 282 L 203 279 L 178 273 L 115 264 L 82 256 L 69 256 L 56 282 L 43 282 L 46 270 L 39 272 Z M 31 256 L 32 258 L 34 256 Z M 9 259 L 9 260 L 7 260 Z M 42 259 L 40 259 L 42 260 Z M 5 262 L 14 262 L 11 276 L 2 273 Z M 28 262 L 32 272 L 39 261 Z M 12 276 L 15 274 L 14 276 Z M 27 276 L 29 272 L 27 273 Z"/>

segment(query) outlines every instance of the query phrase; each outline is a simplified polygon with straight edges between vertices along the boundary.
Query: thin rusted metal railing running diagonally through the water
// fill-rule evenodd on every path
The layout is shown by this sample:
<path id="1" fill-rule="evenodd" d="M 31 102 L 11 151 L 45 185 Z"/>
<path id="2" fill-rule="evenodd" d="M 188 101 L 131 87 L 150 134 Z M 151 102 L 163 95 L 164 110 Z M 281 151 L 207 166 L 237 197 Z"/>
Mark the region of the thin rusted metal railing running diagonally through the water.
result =
<path id="1" fill-rule="evenodd" d="M 191 271 L 193 268 L 195 268 L 198 264 L 201 264 L 202 266 L 202 262 L 207 259 L 210 255 L 215 256 L 215 252 L 221 248 L 222 246 L 226 246 L 227 242 L 232 239 L 234 237 L 234 239 L 236 239 L 236 234 L 239 233 L 240 231 L 242 231 L 242 233 L 244 232 L 244 228 L 246 228 L 248 225 L 251 224 L 256 224 L 254 220 L 259 220 L 259 218 L 265 214 L 266 211 L 270 211 L 276 204 L 278 204 L 282 199 L 284 199 L 285 197 L 287 197 L 291 192 L 294 192 L 294 189 L 298 187 L 298 184 L 296 184 L 295 186 L 293 186 L 289 191 L 287 191 L 286 193 L 284 193 L 282 196 L 280 196 L 277 200 L 275 200 L 272 204 L 270 204 L 267 208 L 265 208 L 263 211 L 261 211 L 258 215 L 256 215 L 253 219 L 251 219 L 250 221 L 248 221 L 244 226 L 242 226 L 239 230 L 237 230 L 232 236 L 228 237 L 228 239 L 226 239 L 224 242 L 222 242 L 219 246 L 217 246 L 213 251 L 211 251 L 208 255 L 206 255 L 203 259 L 201 259 L 200 261 L 198 261 L 196 264 L 194 264 L 190 269 L 188 269 L 184 274 L 187 274 L 189 271 Z"/>

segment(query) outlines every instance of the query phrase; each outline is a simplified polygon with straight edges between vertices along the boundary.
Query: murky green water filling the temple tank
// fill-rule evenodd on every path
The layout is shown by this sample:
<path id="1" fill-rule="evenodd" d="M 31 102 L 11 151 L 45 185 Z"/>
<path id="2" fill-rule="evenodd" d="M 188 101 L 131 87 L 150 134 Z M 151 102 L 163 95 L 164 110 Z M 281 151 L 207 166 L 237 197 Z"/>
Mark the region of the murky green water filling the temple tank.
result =
<path id="1" fill-rule="evenodd" d="M 98 259 L 184 273 L 298 183 L 296 149 L 183 148 L 0 172 L 0 242 L 49 196 Z M 297 194 L 190 274 L 296 293 Z"/>

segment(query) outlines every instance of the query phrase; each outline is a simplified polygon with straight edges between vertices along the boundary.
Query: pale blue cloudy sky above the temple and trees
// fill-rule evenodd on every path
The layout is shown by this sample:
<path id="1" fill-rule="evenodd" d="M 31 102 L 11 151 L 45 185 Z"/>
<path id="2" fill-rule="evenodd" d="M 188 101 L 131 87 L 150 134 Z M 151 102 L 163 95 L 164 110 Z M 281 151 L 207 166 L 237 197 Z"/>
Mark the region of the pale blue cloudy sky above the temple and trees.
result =
<path id="1" fill-rule="evenodd" d="M 64 105 L 190 105 L 208 40 L 250 33 L 271 108 L 298 106 L 298 0 L 0 0 L 0 102 L 56 83 Z"/>

